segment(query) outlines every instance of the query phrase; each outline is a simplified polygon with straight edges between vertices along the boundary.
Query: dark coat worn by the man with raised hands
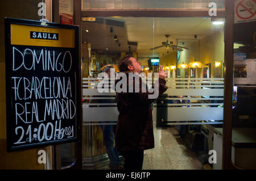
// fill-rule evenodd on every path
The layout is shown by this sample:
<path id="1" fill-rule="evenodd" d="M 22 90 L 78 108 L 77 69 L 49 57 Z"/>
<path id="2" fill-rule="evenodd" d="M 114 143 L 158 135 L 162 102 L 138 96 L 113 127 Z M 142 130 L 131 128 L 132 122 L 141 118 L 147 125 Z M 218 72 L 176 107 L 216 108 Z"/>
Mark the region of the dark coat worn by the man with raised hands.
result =
<path id="1" fill-rule="evenodd" d="M 143 82 L 138 74 L 135 77 L 139 79 L 139 92 L 138 87 L 135 87 L 134 81 L 129 81 L 127 75 L 127 92 L 117 92 L 117 108 L 119 111 L 115 145 L 118 151 L 130 150 L 146 150 L 154 148 L 154 133 L 152 124 L 152 108 L 151 103 L 155 99 L 148 99 L 149 94 L 154 92 L 142 92 Z M 119 80 L 115 81 L 115 85 Z M 129 83 L 133 83 L 133 91 L 129 91 Z M 155 85 L 157 86 L 157 85 Z M 167 90 L 166 81 L 159 78 L 159 95 L 162 95 Z"/>

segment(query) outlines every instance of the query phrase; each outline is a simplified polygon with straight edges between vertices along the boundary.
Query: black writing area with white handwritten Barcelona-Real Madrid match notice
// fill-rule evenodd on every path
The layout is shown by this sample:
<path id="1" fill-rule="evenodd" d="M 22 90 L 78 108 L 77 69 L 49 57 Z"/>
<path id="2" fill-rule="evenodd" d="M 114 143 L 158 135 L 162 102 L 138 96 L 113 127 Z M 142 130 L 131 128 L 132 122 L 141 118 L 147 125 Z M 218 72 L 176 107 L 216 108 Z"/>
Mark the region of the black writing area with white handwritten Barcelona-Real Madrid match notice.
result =
<path id="1" fill-rule="evenodd" d="M 13 47 L 12 53 L 14 144 L 73 138 L 76 87 L 72 52 Z"/>

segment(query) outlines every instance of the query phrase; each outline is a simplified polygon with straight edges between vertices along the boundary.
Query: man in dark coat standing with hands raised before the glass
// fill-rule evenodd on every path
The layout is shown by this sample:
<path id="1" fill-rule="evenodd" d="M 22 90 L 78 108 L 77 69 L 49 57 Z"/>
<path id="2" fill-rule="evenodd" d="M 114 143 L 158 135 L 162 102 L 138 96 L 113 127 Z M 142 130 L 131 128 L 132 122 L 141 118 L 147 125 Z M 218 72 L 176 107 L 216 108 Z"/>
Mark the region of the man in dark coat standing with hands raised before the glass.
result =
<path id="1" fill-rule="evenodd" d="M 127 87 L 133 84 L 133 92 L 117 92 L 117 108 L 119 111 L 115 145 L 125 158 L 125 170 L 141 170 L 143 165 L 143 151 L 154 148 L 154 133 L 152 124 L 151 103 L 149 99 L 152 91 L 142 91 L 142 81 L 138 74 L 142 73 L 141 63 L 133 56 L 123 57 L 118 64 L 119 71 L 126 74 Z M 134 88 L 134 80 L 129 81 L 129 76 L 139 79 L 139 89 Z M 159 70 L 158 96 L 167 90 L 165 78 L 167 72 Z M 118 83 L 117 80 L 116 84 Z M 127 89 L 128 90 L 128 89 Z M 130 89 L 129 89 L 130 90 Z M 139 90 L 139 92 L 138 92 Z"/>

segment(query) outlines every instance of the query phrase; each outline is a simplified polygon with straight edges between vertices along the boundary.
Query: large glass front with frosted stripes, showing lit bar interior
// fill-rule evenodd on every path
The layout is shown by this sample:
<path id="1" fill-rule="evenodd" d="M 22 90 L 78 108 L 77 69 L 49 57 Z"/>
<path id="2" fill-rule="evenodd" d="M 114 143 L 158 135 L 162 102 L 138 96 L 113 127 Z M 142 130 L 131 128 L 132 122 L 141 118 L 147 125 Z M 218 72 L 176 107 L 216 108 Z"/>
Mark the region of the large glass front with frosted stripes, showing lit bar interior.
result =
<path id="1" fill-rule="evenodd" d="M 139 2 L 141 4 L 138 7 L 141 7 L 145 1 L 131 2 Z M 102 127 L 117 124 L 117 104 L 113 102 L 115 93 L 99 95 L 96 92 L 99 82 L 97 76 L 106 66 L 113 66 L 118 72 L 118 61 L 126 54 L 137 58 L 146 75 L 158 72 L 159 65 L 163 65 L 164 70 L 168 71 L 167 86 L 170 91 L 164 95 L 167 104 L 161 110 L 157 107 L 156 100 L 153 106 L 154 127 L 159 115 L 165 115 L 168 124 L 175 125 L 170 134 L 180 133 L 183 141 L 188 141 L 198 153 L 201 151 L 203 161 L 208 162 L 208 151 L 213 149 L 214 128 L 222 128 L 223 121 L 224 24 L 213 24 L 210 18 L 96 17 L 94 22 L 82 22 L 82 42 L 82 148 L 86 169 L 109 167 Z M 220 61 L 219 71 L 215 71 L 217 61 Z M 172 112 L 174 110 L 177 111 Z M 191 110 L 193 113 L 189 113 Z M 156 143 L 171 144 L 163 141 L 163 132 L 156 129 L 154 131 Z M 200 144 L 195 145 L 193 141 L 189 141 L 192 137 L 197 137 Z M 172 141 L 175 142 L 175 138 Z M 177 148 L 178 153 L 166 150 L 169 154 L 164 155 L 164 159 L 173 160 L 173 164 L 168 163 L 166 167 L 153 156 L 158 148 L 148 150 L 144 169 L 201 169 L 196 153 L 187 150 L 184 145 L 182 149 Z M 184 149 L 193 158 L 186 157 L 181 161 Z M 175 154 L 177 157 L 174 158 Z M 168 158 L 169 155 L 171 158 Z M 191 159 L 195 161 L 194 165 L 191 165 Z M 102 166 L 99 162 L 106 165 Z"/>

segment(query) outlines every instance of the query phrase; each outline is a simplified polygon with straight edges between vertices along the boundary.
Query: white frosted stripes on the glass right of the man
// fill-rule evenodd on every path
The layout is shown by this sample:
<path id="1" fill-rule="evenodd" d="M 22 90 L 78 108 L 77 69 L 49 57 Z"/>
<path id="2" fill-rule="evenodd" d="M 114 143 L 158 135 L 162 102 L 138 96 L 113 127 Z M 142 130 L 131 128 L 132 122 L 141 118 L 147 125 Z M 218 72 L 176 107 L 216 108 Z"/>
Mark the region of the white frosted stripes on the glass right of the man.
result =
<path id="1" fill-rule="evenodd" d="M 166 97 L 154 104 L 154 120 L 168 125 L 223 123 L 224 78 L 167 78 L 166 85 Z M 161 103 L 168 112 L 162 117 L 156 112 Z"/>

